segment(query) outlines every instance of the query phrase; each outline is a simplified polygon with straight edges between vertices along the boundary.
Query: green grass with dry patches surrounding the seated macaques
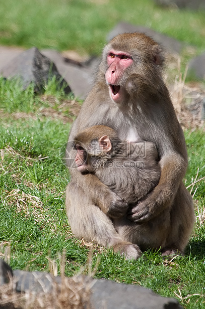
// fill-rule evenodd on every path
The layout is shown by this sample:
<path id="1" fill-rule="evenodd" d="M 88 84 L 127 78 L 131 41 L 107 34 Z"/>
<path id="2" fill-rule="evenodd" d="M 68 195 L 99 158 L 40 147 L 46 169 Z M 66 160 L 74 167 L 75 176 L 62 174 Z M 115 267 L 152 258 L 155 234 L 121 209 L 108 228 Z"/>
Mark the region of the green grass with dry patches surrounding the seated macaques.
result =
<path id="1" fill-rule="evenodd" d="M 46 100 L 45 95 L 35 96 L 32 86 L 22 91 L 12 81 L 0 80 L 0 89 L 0 149 L 4 152 L 0 159 L 0 254 L 6 258 L 9 249 L 10 266 L 29 271 L 48 272 L 49 260 L 55 260 L 60 274 L 59 256 L 65 249 L 66 275 L 82 268 L 87 273 L 89 247 L 72 236 L 65 212 L 69 174 L 64 155 L 70 122 L 41 114 L 42 108 L 60 114 L 62 101 L 69 97 L 57 93 L 51 104 L 52 91 Z M 20 119 L 16 118 L 19 112 L 23 114 Z M 198 167 L 198 179 L 205 175 L 205 135 L 198 130 L 186 131 L 185 136 L 190 161 L 185 181 L 189 185 Z M 205 181 L 194 185 L 192 193 L 195 190 L 201 212 Z M 177 298 L 187 309 L 205 308 L 205 224 L 199 218 L 184 257 L 167 261 L 148 251 L 137 261 L 126 261 L 111 249 L 94 245 L 92 269 L 97 263 L 95 278 L 152 289 Z"/>

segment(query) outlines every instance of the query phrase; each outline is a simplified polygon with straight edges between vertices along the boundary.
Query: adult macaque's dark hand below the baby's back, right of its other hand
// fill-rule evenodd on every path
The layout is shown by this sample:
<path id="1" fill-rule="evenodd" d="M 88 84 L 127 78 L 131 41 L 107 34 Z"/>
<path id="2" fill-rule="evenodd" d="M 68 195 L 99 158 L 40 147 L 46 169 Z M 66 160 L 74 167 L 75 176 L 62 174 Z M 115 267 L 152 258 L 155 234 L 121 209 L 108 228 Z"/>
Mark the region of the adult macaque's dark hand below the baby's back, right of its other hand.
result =
<path id="1" fill-rule="evenodd" d="M 163 185 L 156 186 L 153 191 L 130 207 L 128 219 L 142 223 L 158 216 L 165 208 L 170 206 L 173 200 L 173 195 L 164 194 L 164 191 Z"/>

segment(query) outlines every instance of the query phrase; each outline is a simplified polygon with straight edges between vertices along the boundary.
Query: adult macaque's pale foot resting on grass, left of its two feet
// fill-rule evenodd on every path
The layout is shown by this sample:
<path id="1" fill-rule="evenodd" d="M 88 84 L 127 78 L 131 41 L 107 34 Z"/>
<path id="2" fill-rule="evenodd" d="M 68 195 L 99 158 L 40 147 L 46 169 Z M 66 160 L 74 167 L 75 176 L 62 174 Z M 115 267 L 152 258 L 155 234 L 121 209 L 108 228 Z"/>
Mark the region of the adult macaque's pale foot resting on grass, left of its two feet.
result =
<path id="1" fill-rule="evenodd" d="M 142 255 L 141 250 L 137 245 L 126 243 L 116 244 L 113 246 L 114 252 L 120 252 L 120 255 L 124 255 L 126 260 L 135 259 L 137 260 Z"/>

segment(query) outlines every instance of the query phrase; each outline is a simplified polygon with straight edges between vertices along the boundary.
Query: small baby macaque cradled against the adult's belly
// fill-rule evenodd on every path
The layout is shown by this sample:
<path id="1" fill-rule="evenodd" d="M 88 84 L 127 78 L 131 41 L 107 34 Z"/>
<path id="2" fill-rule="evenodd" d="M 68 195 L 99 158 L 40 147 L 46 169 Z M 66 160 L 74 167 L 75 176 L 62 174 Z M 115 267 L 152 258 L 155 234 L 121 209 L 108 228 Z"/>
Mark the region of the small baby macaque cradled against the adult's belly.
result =
<path id="1" fill-rule="evenodd" d="M 98 179 L 126 201 L 119 211 L 107 213 L 120 217 L 150 192 L 159 182 L 158 153 L 150 142 L 123 142 L 106 126 L 93 126 L 74 139 L 75 164 L 82 173 L 94 173 Z"/>

